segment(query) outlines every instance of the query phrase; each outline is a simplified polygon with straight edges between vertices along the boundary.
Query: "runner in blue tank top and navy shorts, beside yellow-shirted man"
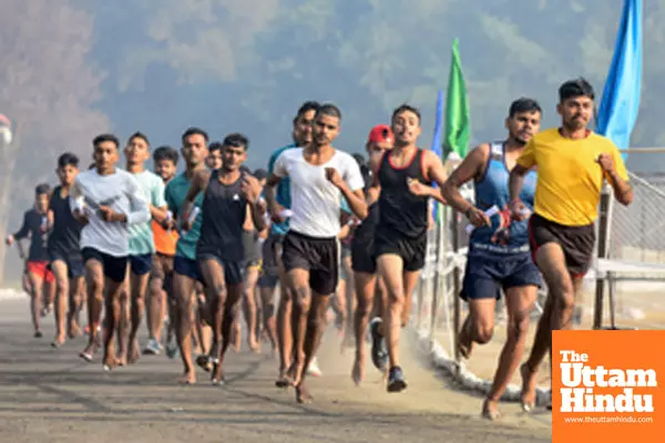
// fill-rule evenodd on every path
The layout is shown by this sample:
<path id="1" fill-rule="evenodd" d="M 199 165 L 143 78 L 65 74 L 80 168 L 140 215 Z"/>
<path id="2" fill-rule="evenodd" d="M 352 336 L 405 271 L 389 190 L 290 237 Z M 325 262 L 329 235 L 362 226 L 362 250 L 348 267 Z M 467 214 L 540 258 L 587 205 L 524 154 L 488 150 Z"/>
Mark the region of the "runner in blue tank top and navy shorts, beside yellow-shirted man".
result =
<path id="1" fill-rule="evenodd" d="M 499 357 L 492 388 L 483 402 L 482 416 L 498 420 L 499 400 L 520 365 L 529 316 L 541 286 L 541 276 L 529 255 L 526 222 L 510 222 L 508 210 L 508 177 L 524 145 L 540 128 L 542 110 L 531 99 L 519 99 L 510 105 L 505 120 L 508 140 L 484 143 L 471 151 L 443 186 L 450 206 L 464 214 L 475 226 L 469 243 L 467 269 L 460 297 L 469 303 L 459 336 L 458 347 L 469 358 L 473 343 L 484 344 L 492 339 L 494 311 L 501 289 L 508 311 L 508 339 Z M 470 179 L 475 185 L 475 202 L 467 202 L 459 188 Z M 530 172 L 520 199 L 533 210 L 536 174 Z M 492 206 L 499 215 L 488 217 Z"/>

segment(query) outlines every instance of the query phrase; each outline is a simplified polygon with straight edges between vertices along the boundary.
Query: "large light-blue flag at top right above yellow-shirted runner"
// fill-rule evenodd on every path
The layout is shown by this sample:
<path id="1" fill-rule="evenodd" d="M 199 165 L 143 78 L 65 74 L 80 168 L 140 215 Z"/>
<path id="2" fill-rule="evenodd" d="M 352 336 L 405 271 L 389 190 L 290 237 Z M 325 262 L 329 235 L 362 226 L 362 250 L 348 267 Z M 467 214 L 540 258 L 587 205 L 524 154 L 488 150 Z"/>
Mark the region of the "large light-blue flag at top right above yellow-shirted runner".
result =
<path id="1" fill-rule="evenodd" d="M 642 0 L 624 0 L 596 132 L 620 150 L 631 145 L 642 93 Z M 625 161 L 626 154 L 623 154 Z"/>

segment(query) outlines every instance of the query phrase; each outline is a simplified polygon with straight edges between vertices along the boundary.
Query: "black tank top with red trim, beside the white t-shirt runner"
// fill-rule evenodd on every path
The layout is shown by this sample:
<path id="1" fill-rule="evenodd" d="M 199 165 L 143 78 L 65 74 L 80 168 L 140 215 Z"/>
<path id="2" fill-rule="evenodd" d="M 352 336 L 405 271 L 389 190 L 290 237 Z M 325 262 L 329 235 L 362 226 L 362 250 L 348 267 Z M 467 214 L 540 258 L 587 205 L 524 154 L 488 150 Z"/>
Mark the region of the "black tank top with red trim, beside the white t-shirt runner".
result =
<path id="1" fill-rule="evenodd" d="M 422 174 L 423 151 L 418 148 L 413 159 L 402 168 L 390 163 L 390 152 L 381 158 L 378 179 L 381 186 L 379 195 L 379 224 L 377 230 L 388 235 L 399 234 L 407 238 L 419 238 L 427 235 L 428 197 L 419 197 L 409 190 L 407 179 L 426 182 Z"/>

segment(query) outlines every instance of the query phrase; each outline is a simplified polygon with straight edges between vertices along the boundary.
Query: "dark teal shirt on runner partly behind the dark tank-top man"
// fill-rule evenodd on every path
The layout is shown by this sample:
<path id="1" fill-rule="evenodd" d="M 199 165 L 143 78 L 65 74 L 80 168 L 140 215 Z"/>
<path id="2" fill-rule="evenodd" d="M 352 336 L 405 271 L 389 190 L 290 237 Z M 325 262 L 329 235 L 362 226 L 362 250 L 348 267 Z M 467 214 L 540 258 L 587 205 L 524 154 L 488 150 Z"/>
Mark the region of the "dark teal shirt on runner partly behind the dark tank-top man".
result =
<path id="1" fill-rule="evenodd" d="M 185 203 L 185 197 L 190 190 L 190 184 L 191 182 L 187 179 L 185 173 L 182 173 L 166 185 L 166 204 L 168 205 L 168 210 L 171 210 L 173 216 L 180 220 L 178 225 L 182 224 L 182 220 L 180 219 L 180 210 L 183 207 L 183 203 Z M 202 205 L 203 193 L 198 193 L 196 199 L 194 200 L 194 206 L 201 209 Z M 196 220 L 194 220 L 194 226 L 192 226 L 192 229 L 187 233 L 181 233 L 175 247 L 176 256 L 185 257 L 190 260 L 196 259 L 196 244 L 198 243 L 198 236 L 201 235 L 202 219 L 203 217 L 200 213 L 196 217 Z"/>

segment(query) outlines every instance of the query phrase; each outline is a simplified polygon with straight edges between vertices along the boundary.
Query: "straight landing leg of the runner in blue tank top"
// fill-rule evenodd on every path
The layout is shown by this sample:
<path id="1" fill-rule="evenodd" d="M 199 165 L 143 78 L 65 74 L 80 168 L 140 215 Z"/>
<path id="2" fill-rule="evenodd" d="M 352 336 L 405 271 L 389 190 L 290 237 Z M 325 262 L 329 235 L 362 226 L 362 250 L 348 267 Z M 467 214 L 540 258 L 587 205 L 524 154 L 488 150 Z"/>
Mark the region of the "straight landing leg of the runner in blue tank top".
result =
<path id="1" fill-rule="evenodd" d="M 520 365 L 529 331 L 529 316 L 533 309 L 536 293 L 538 286 L 521 286 L 505 290 L 508 338 L 499 357 L 499 367 L 494 373 L 492 388 L 483 404 L 482 413 L 487 419 L 497 420 L 500 416 L 499 401 Z"/>

